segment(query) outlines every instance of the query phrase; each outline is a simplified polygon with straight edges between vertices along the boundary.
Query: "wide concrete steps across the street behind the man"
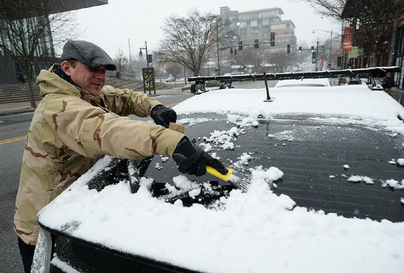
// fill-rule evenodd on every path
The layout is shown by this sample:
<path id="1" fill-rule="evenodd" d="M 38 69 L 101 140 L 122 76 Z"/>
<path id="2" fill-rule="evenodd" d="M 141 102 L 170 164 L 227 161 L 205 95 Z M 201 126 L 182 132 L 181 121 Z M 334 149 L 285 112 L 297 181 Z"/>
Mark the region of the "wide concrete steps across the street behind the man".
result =
<path id="1" fill-rule="evenodd" d="M 106 85 L 112 85 L 115 88 L 129 88 L 135 91 L 143 92 L 143 82 L 131 78 L 107 78 Z M 35 100 L 40 100 L 39 86 L 33 85 Z M 156 89 L 170 88 L 162 83 L 156 83 Z M 0 104 L 14 102 L 29 102 L 30 95 L 28 83 L 3 84 L 0 85 Z"/>

